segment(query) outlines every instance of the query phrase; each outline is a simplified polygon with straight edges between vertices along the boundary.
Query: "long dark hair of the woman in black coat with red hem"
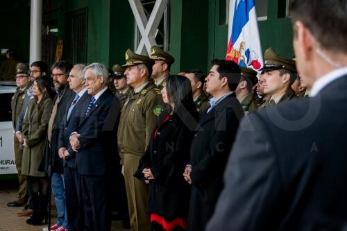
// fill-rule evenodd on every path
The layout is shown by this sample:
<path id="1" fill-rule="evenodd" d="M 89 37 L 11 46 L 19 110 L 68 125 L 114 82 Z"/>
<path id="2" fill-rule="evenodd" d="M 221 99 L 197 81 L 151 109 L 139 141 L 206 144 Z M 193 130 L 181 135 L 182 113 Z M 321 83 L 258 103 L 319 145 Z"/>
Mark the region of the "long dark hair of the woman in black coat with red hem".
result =
<path id="1" fill-rule="evenodd" d="M 193 101 L 192 85 L 185 76 L 173 75 L 167 78 L 167 98 L 174 103 L 174 111 L 184 106 L 187 110 L 196 108 Z"/>

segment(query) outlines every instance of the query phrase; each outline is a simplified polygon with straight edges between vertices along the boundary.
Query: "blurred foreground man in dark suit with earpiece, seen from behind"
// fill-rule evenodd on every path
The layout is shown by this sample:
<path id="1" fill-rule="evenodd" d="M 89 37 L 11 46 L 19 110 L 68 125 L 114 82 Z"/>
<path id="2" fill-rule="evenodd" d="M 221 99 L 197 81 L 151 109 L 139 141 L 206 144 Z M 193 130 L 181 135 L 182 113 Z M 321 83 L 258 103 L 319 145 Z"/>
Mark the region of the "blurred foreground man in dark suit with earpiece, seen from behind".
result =
<path id="1" fill-rule="evenodd" d="M 310 97 L 244 118 L 208 231 L 347 228 L 347 1 L 290 9 Z"/>

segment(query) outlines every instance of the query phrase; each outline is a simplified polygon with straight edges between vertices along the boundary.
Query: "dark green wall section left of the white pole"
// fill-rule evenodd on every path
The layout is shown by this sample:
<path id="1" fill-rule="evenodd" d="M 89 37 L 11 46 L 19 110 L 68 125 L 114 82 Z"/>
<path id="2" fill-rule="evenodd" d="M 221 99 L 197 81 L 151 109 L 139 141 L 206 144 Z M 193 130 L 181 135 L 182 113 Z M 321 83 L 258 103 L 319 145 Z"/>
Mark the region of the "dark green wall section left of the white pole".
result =
<path id="1" fill-rule="evenodd" d="M 17 60 L 29 62 L 30 6 L 28 1 L 1 1 L 0 49 L 14 49 Z M 4 57 L 1 57 L 2 60 Z"/>

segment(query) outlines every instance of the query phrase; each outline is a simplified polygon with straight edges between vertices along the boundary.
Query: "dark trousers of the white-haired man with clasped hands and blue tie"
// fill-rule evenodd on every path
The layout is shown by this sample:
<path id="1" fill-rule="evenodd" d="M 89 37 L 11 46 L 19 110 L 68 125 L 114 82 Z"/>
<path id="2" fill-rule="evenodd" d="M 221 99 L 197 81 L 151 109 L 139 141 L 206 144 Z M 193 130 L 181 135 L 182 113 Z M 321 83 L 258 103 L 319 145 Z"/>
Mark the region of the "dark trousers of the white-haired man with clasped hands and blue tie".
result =
<path id="1" fill-rule="evenodd" d="M 85 231 L 108 231 L 110 214 L 106 209 L 107 191 L 105 176 L 81 176 L 81 196 Z"/>

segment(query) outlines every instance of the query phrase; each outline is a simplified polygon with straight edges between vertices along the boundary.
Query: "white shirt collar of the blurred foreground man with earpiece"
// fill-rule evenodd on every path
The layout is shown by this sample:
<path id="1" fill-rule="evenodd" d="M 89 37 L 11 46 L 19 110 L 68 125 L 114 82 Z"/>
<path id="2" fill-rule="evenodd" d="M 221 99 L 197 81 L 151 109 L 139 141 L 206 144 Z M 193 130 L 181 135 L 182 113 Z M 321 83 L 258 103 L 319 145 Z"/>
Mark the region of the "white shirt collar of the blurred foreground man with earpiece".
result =
<path id="1" fill-rule="evenodd" d="M 314 82 L 312 89 L 310 91 L 310 96 L 316 96 L 321 92 L 321 90 L 329 85 L 329 83 L 332 83 L 332 81 L 337 80 L 337 78 L 340 78 L 342 76 L 346 76 L 347 74 L 347 67 L 341 67 L 339 69 L 335 69 L 334 71 L 330 71 L 328 74 L 325 74 L 316 82 Z"/>

